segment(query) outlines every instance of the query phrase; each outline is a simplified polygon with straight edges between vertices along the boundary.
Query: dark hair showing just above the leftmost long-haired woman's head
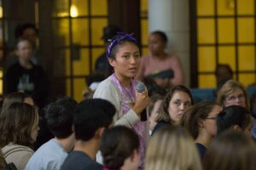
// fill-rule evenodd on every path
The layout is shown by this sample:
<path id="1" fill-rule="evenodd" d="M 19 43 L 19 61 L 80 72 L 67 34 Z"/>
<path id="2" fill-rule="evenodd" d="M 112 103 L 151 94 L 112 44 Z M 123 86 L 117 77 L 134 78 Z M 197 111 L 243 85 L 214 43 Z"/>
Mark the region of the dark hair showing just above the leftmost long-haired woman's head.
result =
<path id="1" fill-rule="evenodd" d="M 3 99 L 2 111 L 6 110 L 9 107 L 9 105 L 11 105 L 15 102 L 23 103 L 26 98 L 32 98 L 32 97 L 23 92 L 15 92 L 12 94 L 8 94 Z"/>

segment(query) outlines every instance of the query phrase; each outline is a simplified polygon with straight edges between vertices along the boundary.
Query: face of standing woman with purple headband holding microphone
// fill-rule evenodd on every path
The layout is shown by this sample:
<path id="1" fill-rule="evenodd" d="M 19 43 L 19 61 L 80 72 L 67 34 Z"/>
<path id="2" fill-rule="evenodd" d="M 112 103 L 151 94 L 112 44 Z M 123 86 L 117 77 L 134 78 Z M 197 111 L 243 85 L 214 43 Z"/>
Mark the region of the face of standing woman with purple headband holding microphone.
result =
<path id="1" fill-rule="evenodd" d="M 137 74 L 141 56 L 139 48 L 134 43 L 125 42 L 119 46 L 115 59 L 109 59 L 114 72 L 118 77 L 132 78 Z"/>

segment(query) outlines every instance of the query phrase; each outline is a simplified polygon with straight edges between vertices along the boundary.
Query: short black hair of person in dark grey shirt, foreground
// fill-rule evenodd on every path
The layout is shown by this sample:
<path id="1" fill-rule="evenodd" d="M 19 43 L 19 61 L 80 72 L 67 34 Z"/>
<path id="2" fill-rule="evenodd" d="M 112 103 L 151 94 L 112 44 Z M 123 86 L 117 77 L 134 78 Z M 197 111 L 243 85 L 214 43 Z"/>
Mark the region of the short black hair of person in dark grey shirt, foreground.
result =
<path id="1" fill-rule="evenodd" d="M 113 122 L 114 106 L 105 99 L 84 99 L 77 105 L 74 117 L 75 137 L 88 141 L 99 127 L 108 127 Z"/>

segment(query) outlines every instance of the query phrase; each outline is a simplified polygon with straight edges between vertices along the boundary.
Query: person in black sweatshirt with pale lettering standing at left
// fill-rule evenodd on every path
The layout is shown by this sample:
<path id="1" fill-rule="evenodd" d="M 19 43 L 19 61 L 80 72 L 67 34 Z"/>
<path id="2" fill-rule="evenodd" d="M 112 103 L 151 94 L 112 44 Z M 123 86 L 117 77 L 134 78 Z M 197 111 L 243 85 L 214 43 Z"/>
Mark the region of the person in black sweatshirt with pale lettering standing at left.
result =
<path id="1" fill-rule="evenodd" d="M 17 43 L 17 54 L 19 61 L 10 65 L 6 71 L 4 92 L 9 94 L 19 91 L 30 94 L 39 108 L 42 108 L 47 97 L 48 85 L 44 70 L 30 61 L 32 57 L 31 42 L 20 39 Z"/>

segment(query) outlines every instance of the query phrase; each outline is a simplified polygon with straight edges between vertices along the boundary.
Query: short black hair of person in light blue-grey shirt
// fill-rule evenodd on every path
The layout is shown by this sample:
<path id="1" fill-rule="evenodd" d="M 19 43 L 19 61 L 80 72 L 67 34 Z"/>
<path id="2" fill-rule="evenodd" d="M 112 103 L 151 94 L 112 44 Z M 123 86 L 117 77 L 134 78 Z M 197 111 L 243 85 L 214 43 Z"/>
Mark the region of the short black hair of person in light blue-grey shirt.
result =
<path id="1" fill-rule="evenodd" d="M 73 133 L 73 113 L 78 103 L 67 96 L 57 99 L 44 108 L 49 130 L 58 139 L 65 139 Z"/>

